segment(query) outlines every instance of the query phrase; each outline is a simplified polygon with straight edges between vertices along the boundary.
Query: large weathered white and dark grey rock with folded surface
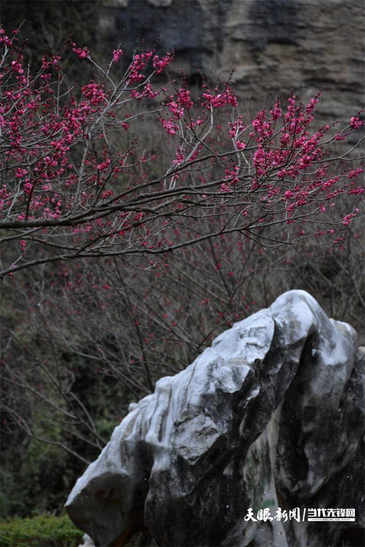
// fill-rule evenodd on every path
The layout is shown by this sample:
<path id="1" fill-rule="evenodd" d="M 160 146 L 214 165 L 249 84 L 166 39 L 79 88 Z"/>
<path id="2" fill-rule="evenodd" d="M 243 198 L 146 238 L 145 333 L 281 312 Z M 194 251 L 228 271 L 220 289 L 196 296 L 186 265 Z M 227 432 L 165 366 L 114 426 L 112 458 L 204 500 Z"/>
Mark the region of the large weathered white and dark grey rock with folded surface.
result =
<path id="1" fill-rule="evenodd" d="M 328 547 L 349 528 L 360 537 L 364 379 L 354 329 L 287 292 L 132 405 L 68 514 L 102 546 L 142 529 L 176 546 Z M 248 508 L 278 507 L 355 508 L 356 521 L 245 520 Z"/>

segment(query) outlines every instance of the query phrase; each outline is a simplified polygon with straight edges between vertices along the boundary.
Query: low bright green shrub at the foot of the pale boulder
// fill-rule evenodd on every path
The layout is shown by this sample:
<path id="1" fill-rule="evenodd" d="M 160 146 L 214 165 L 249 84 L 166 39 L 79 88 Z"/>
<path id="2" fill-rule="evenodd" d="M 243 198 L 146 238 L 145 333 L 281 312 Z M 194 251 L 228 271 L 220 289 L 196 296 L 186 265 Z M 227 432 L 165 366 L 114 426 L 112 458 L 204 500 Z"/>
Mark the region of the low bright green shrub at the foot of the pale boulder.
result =
<path id="1" fill-rule="evenodd" d="M 1 547 L 74 547 L 82 542 L 83 532 L 67 515 L 39 515 L 0 522 Z"/>

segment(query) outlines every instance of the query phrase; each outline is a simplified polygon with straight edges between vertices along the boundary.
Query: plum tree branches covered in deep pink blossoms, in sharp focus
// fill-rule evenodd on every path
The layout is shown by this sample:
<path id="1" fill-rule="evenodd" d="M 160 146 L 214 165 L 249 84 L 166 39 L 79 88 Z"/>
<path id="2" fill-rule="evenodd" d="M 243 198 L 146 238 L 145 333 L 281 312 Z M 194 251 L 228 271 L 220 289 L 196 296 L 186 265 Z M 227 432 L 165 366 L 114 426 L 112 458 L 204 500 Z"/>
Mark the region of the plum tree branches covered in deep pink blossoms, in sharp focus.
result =
<path id="1" fill-rule="evenodd" d="M 320 94 L 306 106 L 292 94 L 245 123 L 229 82 L 210 90 L 202 79 L 195 99 L 184 79 L 155 89 L 173 52 L 135 52 L 120 71 L 120 47 L 104 69 L 69 40 L 32 71 L 18 33 L 0 32 L 1 277 L 108 256 L 153 267 L 158 255 L 233 232 L 264 247 L 339 242 L 360 216 L 363 137 L 345 152 L 335 146 L 363 126 L 361 112 L 337 132 L 312 131 Z M 78 92 L 64 85 L 66 48 L 96 72 Z M 153 149 L 145 117 L 159 122 Z"/>

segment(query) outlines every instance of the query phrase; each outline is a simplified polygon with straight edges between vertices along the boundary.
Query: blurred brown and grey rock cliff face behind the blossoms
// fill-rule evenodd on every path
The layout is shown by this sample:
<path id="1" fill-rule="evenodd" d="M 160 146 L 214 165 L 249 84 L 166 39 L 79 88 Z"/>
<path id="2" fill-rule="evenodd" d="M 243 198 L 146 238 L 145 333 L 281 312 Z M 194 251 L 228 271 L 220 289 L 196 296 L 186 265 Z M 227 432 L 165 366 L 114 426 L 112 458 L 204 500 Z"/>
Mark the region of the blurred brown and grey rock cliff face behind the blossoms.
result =
<path id="1" fill-rule="evenodd" d="M 99 16 L 114 44 L 160 36 L 193 81 L 199 69 L 225 80 L 234 66 L 249 113 L 291 88 L 303 101 L 323 89 L 323 123 L 364 102 L 362 0 L 112 0 Z"/>

